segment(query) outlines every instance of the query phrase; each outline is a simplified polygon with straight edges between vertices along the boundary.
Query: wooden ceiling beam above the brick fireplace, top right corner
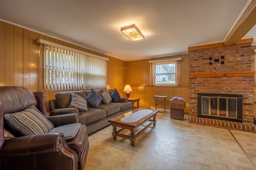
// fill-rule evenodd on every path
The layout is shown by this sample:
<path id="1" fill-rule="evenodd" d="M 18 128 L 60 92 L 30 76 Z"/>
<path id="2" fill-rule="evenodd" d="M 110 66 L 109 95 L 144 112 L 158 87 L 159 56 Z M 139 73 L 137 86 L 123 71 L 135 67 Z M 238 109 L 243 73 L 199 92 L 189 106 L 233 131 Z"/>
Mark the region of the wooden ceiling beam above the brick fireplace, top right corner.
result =
<path id="1" fill-rule="evenodd" d="M 252 0 L 244 14 L 226 38 L 224 45 L 236 44 L 252 29 L 252 27 L 254 27 L 254 25 L 256 25 L 256 0 Z"/>

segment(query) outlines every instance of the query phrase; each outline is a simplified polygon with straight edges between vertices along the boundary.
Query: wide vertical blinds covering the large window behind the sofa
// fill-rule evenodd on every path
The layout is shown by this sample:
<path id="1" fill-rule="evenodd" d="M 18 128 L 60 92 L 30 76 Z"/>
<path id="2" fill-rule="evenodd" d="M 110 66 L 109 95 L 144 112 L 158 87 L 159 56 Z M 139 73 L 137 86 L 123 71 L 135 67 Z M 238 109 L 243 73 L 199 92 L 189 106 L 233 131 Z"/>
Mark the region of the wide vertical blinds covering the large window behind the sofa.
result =
<path id="1" fill-rule="evenodd" d="M 47 44 L 43 55 L 45 91 L 106 87 L 106 60 Z"/>

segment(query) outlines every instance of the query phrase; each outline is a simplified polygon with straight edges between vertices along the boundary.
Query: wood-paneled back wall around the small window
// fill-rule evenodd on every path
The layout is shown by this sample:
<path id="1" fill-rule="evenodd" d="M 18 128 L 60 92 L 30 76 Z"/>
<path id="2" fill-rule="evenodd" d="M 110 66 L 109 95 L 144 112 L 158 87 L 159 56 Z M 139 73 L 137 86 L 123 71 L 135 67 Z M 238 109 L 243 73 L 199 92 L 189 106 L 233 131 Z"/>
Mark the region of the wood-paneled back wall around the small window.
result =
<path id="1" fill-rule="evenodd" d="M 150 84 L 150 63 L 153 60 L 163 60 L 182 57 L 182 61 L 178 63 L 180 72 L 178 80 L 182 82 L 182 86 L 151 86 Z M 140 107 L 150 108 L 155 106 L 154 95 L 168 96 L 166 98 L 166 107 L 170 108 L 170 99 L 173 97 L 182 97 L 188 101 L 188 54 L 176 55 L 170 57 L 160 57 L 155 59 L 144 59 L 126 62 L 126 84 L 130 84 L 132 92 L 131 98 L 141 98 Z M 162 98 L 158 98 L 158 106 L 163 107 Z M 188 107 L 185 107 L 185 113 L 188 113 Z"/>

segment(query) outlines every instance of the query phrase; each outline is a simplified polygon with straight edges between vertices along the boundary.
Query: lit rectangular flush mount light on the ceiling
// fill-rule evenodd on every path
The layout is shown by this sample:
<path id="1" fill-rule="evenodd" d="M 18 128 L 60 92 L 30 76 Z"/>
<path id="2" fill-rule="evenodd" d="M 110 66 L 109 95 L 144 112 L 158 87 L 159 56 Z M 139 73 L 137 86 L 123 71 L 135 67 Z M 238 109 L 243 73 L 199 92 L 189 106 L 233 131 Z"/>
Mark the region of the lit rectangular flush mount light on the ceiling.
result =
<path id="1" fill-rule="evenodd" d="M 144 39 L 144 35 L 140 32 L 140 30 L 138 29 L 138 27 L 136 27 L 135 24 L 121 27 L 121 31 L 132 41 Z"/>

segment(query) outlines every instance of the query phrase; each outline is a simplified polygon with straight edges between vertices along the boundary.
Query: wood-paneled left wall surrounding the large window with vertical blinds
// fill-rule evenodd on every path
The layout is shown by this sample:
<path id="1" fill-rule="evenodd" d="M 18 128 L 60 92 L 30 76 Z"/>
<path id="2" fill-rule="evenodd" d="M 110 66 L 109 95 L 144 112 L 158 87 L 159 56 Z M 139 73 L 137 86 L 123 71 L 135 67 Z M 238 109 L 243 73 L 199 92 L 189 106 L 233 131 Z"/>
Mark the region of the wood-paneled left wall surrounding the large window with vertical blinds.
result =
<path id="1" fill-rule="evenodd" d="M 0 21 L 0 86 L 23 86 L 36 92 L 40 89 L 39 75 L 42 66 L 39 66 L 39 45 L 36 39 L 65 45 L 74 49 L 107 57 L 107 88 L 116 88 L 122 97 L 125 97 L 126 62 L 108 55 L 104 55 L 83 47 L 61 41 L 10 23 Z M 46 94 L 48 101 L 54 99 L 54 92 Z"/>

